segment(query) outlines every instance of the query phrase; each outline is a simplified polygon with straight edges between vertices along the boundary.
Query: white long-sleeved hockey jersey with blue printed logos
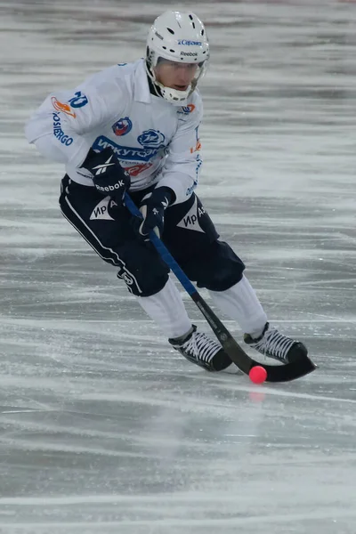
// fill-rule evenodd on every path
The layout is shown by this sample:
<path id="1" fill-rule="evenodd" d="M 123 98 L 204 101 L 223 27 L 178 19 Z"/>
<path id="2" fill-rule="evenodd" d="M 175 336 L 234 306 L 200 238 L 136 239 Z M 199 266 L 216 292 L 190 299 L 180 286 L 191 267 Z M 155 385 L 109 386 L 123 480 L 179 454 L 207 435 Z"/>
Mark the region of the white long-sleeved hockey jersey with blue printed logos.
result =
<path id="1" fill-rule="evenodd" d="M 72 91 L 50 94 L 26 125 L 28 142 L 64 163 L 74 181 L 93 186 L 82 166 L 90 148 L 111 147 L 131 176 L 130 190 L 159 182 L 176 203 L 190 197 L 202 165 L 198 91 L 176 107 L 150 93 L 144 60 L 105 69 Z"/>

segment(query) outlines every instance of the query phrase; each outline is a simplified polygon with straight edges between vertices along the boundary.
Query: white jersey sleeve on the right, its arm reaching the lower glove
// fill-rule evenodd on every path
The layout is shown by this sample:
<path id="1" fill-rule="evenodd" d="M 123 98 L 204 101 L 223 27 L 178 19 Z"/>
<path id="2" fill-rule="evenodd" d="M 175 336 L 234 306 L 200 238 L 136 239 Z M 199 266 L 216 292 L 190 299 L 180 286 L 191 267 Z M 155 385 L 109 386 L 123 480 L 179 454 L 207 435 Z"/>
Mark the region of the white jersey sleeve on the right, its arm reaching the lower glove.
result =
<path id="1" fill-rule="evenodd" d="M 198 96 L 198 95 L 197 95 Z M 178 119 L 178 128 L 169 144 L 168 156 L 157 187 L 170 187 L 175 193 L 174 204 L 188 198 L 198 185 L 203 164 L 198 127 L 203 117 L 200 97 L 195 99 L 194 110 Z"/>

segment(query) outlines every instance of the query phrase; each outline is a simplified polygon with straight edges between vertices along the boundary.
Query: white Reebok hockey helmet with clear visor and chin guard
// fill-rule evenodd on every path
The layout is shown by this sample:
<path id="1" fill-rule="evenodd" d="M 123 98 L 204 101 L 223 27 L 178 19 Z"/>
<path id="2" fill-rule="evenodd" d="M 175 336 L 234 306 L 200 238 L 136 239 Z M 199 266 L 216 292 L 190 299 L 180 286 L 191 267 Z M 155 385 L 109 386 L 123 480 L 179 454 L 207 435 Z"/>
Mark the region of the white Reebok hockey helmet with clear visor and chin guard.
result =
<path id="1" fill-rule="evenodd" d="M 158 59 L 179 63 L 197 63 L 196 76 L 186 91 L 176 91 L 158 82 L 155 67 Z M 209 59 L 209 42 L 206 29 L 192 12 L 167 11 L 160 15 L 150 28 L 147 38 L 146 69 L 158 94 L 166 101 L 183 106 L 206 72 Z"/>

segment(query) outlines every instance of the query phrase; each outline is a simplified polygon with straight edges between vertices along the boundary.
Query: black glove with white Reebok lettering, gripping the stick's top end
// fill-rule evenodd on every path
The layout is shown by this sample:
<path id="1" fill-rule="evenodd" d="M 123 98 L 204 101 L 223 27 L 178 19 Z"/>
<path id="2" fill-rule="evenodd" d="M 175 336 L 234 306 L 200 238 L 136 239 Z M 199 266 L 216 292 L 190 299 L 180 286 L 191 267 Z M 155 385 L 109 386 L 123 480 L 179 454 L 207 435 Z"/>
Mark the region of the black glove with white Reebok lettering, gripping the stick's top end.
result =
<path id="1" fill-rule="evenodd" d="M 82 166 L 93 174 L 93 184 L 101 195 L 109 195 L 117 204 L 122 204 L 125 191 L 130 187 L 130 176 L 110 147 L 101 152 L 90 149 Z"/>

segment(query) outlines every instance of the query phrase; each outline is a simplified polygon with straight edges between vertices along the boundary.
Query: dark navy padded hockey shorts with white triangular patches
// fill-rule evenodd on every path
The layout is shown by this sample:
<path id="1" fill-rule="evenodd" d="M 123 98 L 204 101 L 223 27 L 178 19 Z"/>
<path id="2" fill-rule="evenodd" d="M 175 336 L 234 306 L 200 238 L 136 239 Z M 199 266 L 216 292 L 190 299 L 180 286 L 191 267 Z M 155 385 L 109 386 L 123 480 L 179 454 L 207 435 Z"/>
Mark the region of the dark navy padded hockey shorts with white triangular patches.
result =
<path id="1" fill-rule="evenodd" d="M 152 188 L 151 188 L 152 189 Z M 136 205 L 151 189 L 130 193 Z M 118 268 L 134 295 L 155 295 L 165 285 L 169 269 L 157 251 L 139 239 L 133 215 L 95 188 L 80 185 L 66 175 L 61 182 L 62 214 L 95 252 Z M 166 209 L 162 240 L 188 278 L 198 287 L 223 291 L 242 277 L 244 263 L 220 241 L 206 210 L 193 193 L 182 204 Z"/>

